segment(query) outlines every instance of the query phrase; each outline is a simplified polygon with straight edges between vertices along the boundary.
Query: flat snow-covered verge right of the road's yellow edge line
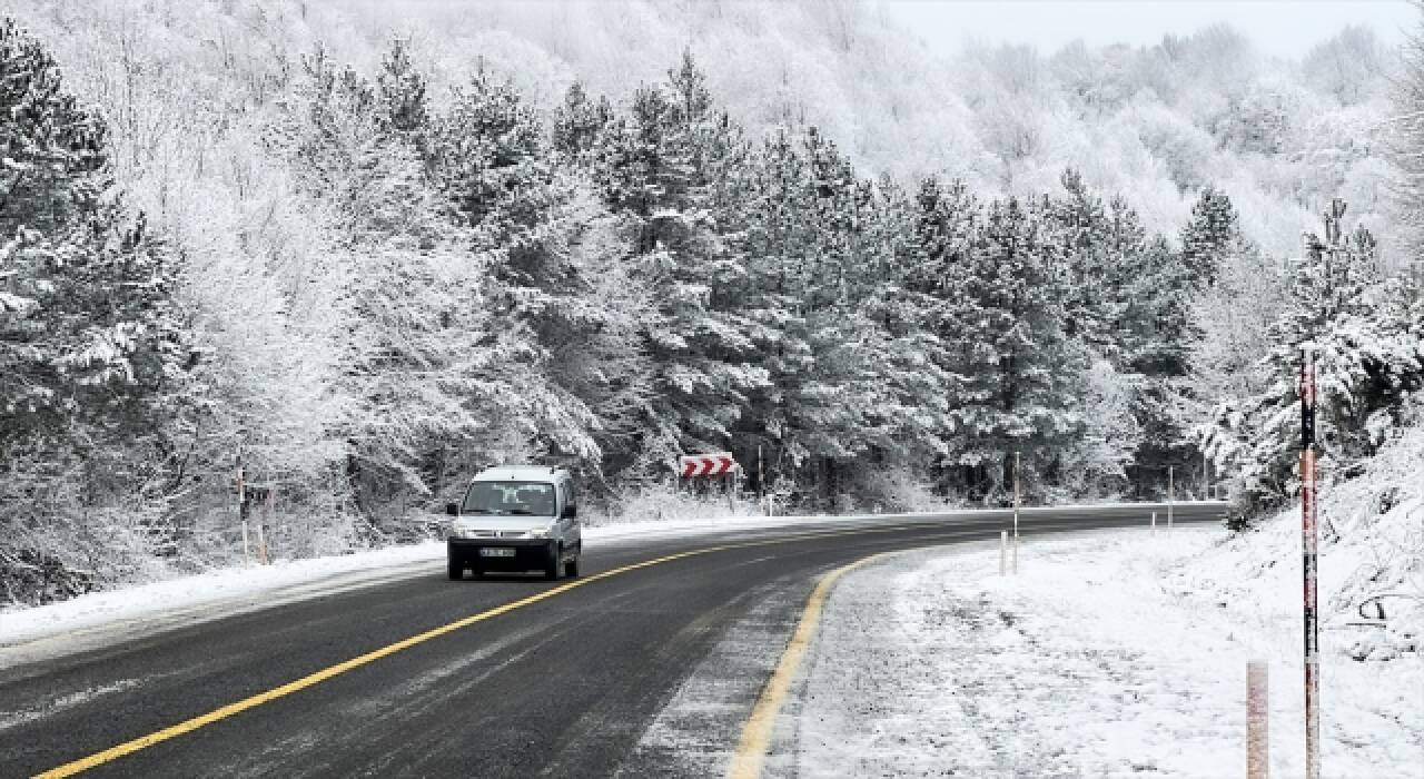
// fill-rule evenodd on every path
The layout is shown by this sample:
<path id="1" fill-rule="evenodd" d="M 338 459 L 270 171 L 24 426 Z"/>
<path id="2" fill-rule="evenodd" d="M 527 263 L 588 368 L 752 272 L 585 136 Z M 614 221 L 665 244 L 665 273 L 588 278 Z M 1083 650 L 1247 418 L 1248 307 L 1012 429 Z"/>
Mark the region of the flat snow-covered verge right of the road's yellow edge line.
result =
<path id="1" fill-rule="evenodd" d="M 1274 547 L 1294 571 L 1276 598 L 1218 584 L 1242 564 L 1222 554 L 1226 535 L 1028 537 L 1021 574 L 1005 578 L 983 544 L 849 574 L 769 773 L 1239 776 L 1250 659 L 1270 665 L 1272 772 L 1304 773 L 1299 537 Z M 1324 772 L 1417 776 L 1424 658 L 1357 662 L 1350 641 L 1321 635 Z"/>

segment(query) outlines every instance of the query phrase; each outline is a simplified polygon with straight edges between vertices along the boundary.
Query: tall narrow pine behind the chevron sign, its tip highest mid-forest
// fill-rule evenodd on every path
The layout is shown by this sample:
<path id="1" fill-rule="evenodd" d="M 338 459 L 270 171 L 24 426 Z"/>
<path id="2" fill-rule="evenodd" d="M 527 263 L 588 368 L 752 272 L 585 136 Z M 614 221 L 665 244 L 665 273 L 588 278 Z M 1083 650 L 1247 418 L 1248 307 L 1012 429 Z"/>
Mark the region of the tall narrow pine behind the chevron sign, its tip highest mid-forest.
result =
<path id="1" fill-rule="evenodd" d="M 746 392 L 765 385 L 735 312 L 743 269 L 719 221 L 745 144 L 718 111 L 691 54 L 662 84 L 634 94 L 629 115 L 605 134 L 601 185 L 631 244 L 631 275 L 656 303 L 644 322 L 656 367 L 638 471 L 682 451 L 725 449 Z"/>

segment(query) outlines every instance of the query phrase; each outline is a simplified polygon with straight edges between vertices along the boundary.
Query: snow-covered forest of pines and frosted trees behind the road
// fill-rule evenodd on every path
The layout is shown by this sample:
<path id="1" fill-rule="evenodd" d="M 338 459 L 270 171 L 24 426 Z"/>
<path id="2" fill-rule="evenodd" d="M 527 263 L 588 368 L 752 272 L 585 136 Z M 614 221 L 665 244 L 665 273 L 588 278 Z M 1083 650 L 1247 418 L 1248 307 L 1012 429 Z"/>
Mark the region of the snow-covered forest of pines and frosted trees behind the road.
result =
<path id="1" fill-rule="evenodd" d="M 1420 424 L 1415 46 L 392 7 L 0 3 L 0 602 L 241 560 L 239 469 L 286 557 L 491 464 L 617 507 L 721 450 L 785 511 L 1171 479 L 1249 523 L 1303 343 L 1326 479 Z"/>

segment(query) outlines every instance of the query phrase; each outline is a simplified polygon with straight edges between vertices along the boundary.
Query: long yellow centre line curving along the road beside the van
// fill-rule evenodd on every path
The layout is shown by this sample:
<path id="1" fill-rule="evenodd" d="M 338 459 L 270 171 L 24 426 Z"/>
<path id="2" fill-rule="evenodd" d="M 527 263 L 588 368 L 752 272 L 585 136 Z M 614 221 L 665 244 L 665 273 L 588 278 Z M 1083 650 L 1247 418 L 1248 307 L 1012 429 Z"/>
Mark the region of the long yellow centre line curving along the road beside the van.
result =
<path id="1" fill-rule="evenodd" d="M 768 538 L 768 540 L 760 540 L 760 541 L 745 541 L 745 543 L 739 543 L 739 544 L 722 544 L 722 545 L 718 545 L 718 547 L 705 547 L 705 548 L 701 548 L 701 550 L 689 550 L 689 551 L 684 551 L 684 553 L 678 553 L 678 554 L 669 554 L 666 557 L 658 557 L 658 558 L 654 558 L 654 560 L 644 560 L 642 563 L 634 563 L 634 564 L 629 564 L 629 565 L 622 565 L 619 568 L 612 568 L 612 570 L 604 571 L 601 574 L 594 574 L 591 577 L 578 578 L 578 580 L 574 580 L 574 581 L 571 581 L 568 584 L 561 584 L 558 587 L 553 587 L 550 590 L 544 590 L 543 592 L 530 595 L 527 598 L 523 598 L 523 600 L 518 600 L 518 601 L 513 601 L 513 602 L 507 602 L 507 604 L 504 604 L 501 607 L 496 607 L 496 608 L 491 608 L 488 611 L 481 611 L 478 614 L 473 614 L 470 617 L 464 617 L 461 619 L 456 619 L 454 622 L 450 622 L 450 624 L 446 624 L 446 625 L 440 625 L 439 628 L 431 628 L 431 629 L 429 629 L 426 632 L 422 632 L 422 634 L 417 634 L 417 635 L 412 635 L 410 638 L 404 638 L 404 639 L 397 641 L 394 644 L 389 644 L 389 645 L 382 647 L 379 649 L 366 652 L 365 655 L 359 655 L 359 657 L 350 658 L 350 659 L 347 659 L 345 662 L 339 662 L 336 665 L 323 668 L 320 671 L 316 671 L 315 674 L 309 674 L 306 676 L 302 676 L 300 679 L 290 681 L 290 682 L 288 682 L 288 684 L 285 684 L 282 686 L 272 688 L 272 689 L 269 689 L 266 692 L 259 692 L 259 694 L 252 695 L 249 698 L 244 698 L 242 701 L 238 701 L 235 704 L 228 704 L 226 706 L 214 709 L 214 711 L 211 711 L 208 713 L 195 716 L 192 719 L 185 719 L 185 721 L 177 723 L 177 725 L 169 725 L 168 728 L 164 728 L 162 731 L 155 731 L 152 733 L 148 733 L 147 736 L 140 736 L 140 738 L 132 739 L 132 741 L 125 741 L 124 743 L 120 743 L 117 746 L 111 746 L 111 748 L 108 748 L 108 749 L 105 749 L 103 752 L 95 752 L 95 753 L 93 753 L 93 755 L 90 755 L 87 758 L 80 758 L 78 760 L 73 760 L 73 762 L 64 763 L 61 766 L 51 768 L 50 770 L 46 770 L 44 773 L 38 773 L 37 778 L 38 779 L 57 779 L 57 778 L 61 778 L 61 776 L 74 776 L 75 773 L 80 773 L 83 770 L 88 770 L 91 768 L 104 765 L 104 763 L 111 762 L 111 760 L 117 760 L 118 758 L 122 758 L 124 755 L 132 755 L 134 752 L 138 752 L 140 749 L 145 749 L 145 748 L 152 746 L 155 743 L 165 742 L 168 739 L 181 736 L 184 733 L 189 733 L 192 731 L 197 731 L 198 728 L 202 728 L 205 725 L 212 725 L 214 722 L 226 719 L 226 718 L 229 718 L 229 716 L 232 716 L 235 713 L 245 712 L 245 711 L 248 711 L 251 708 L 261 706 L 262 704 L 266 704 L 268 701 L 275 701 L 278 698 L 283 698 L 283 696 L 290 695 L 293 692 L 298 692 L 300 689 L 309 688 L 309 686 L 312 686 L 315 684 L 325 682 L 326 679 L 330 679 L 332 676 L 339 676 L 340 674 L 345 674 L 345 672 L 352 671 L 355 668 L 360 668 L 363 665 L 372 664 L 372 662 L 375 662 L 375 661 L 377 661 L 377 659 L 380 659 L 383 657 L 393 655 L 393 654 L 396 654 L 396 652 L 399 652 L 402 649 L 409 649 L 410 647 L 414 647 L 416 644 L 424 644 L 426 641 L 430 641 L 431 638 L 439 638 L 439 637 L 446 635 L 449 632 L 454 632 L 454 631 L 457 631 L 460 628 L 470 627 L 470 625 L 473 625 L 476 622 L 483 622 L 486 619 L 498 617 L 501 614 L 508 614 L 510 611 L 514 611 L 517 608 L 523 608 L 525 605 L 535 604 L 535 602 L 547 600 L 547 598 L 553 598 L 554 595 L 560 595 L 562 592 L 568 592 L 570 590 L 574 590 L 577 587 L 582 587 L 585 584 L 592 584 L 592 582 L 595 582 L 598 580 L 611 578 L 611 577 L 615 577 L 615 575 L 619 575 L 619 574 L 627 574 L 629 571 L 637 571 L 639 568 L 648 568 L 651 565 L 661 565 L 664 563 L 671 563 L 674 560 L 684 560 L 684 558 L 688 558 L 688 557 L 696 557 L 696 555 L 701 555 L 701 554 L 709 554 L 709 553 L 715 553 L 715 551 L 725 551 L 725 550 L 733 550 L 733 548 L 746 548 L 746 547 L 765 547 L 765 545 L 770 545 L 770 544 L 785 544 L 785 543 L 789 543 L 789 541 L 799 541 L 799 540 L 805 540 L 805 538 L 824 538 L 824 537 L 834 537 L 834 535 L 860 535 L 860 534 L 871 534 L 871 533 L 890 533 L 890 531 L 896 531 L 896 530 L 913 530 L 913 528 L 917 528 L 917 527 L 923 528 L 926 526 L 923 526 L 923 524 L 921 526 L 896 526 L 896 527 L 876 527 L 876 528 L 859 528 L 859 530 L 843 530 L 843 531 L 829 531 L 829 533 L 806 533 L 806 534 L 799 534 L 799 535 L 783 535 L 780 538 Z M 844 570 L 849 570 L 849 568 L 844 568 Z"/>

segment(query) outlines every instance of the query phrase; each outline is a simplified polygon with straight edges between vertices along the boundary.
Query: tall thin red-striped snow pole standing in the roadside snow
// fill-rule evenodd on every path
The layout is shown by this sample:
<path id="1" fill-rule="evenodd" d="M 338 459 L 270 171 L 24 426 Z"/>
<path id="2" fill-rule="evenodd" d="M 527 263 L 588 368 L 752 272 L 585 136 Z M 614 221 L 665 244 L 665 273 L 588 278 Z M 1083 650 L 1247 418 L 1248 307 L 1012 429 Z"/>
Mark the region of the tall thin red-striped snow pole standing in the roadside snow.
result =
<path id="1" fill-rule="evenodd" d="M 1300 535 L 1304 547 L 1306 779 L 1320 779 L 1320 622 L 1316 591 L 1316 356 L 1300 359 Z"/>

